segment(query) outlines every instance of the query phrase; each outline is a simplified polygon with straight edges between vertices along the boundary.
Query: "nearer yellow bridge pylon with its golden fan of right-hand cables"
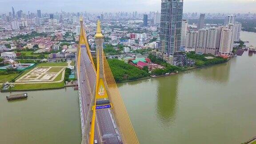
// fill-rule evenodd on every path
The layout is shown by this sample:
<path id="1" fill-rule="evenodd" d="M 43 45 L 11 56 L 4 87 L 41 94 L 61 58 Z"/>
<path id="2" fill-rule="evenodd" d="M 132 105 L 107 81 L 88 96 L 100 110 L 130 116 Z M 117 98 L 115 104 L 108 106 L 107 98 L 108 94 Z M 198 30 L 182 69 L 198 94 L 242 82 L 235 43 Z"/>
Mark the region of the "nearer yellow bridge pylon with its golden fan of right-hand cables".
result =
<path id="1" fill-rule="evenodd" d="M 124 106 L 124 102 L 120 96 L 116 82 L 113 78 L 111 69 L 109 68 L 108 61 L 104 56 L 104 36 L 101 33 L 100 20 L 97 22 L 95 42 L 97 57 L 96 88 L 94 106 L 92 107 L 93 112 L 89 144 L 94 144 L 96 110 L 101 109 L 100 107 L 112 108 L 116 120 L 116 125 L 120 130 L 120 136 L 124 144 L 139 144 L 128 113 Z M 98 102 L 97 100 L 109 100 L 112 102 L 112 104 L 109 102 L 108 104 L 96 105 Z"/>

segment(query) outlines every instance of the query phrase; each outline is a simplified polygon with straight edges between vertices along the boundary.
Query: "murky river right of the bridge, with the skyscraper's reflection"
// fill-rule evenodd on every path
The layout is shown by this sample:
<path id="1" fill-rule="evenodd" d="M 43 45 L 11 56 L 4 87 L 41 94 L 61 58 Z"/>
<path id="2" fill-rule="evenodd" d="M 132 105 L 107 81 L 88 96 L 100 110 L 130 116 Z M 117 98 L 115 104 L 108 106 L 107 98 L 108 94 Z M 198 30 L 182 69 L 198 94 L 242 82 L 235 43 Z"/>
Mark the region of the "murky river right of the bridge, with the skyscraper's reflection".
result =
<path id="1" fill-rule="evenodd" d="M 242 32 L 256 45 L 256 33 Z M 240 144 L 256 136 L 256 56 L 118 84 L 141 144 Z"/>

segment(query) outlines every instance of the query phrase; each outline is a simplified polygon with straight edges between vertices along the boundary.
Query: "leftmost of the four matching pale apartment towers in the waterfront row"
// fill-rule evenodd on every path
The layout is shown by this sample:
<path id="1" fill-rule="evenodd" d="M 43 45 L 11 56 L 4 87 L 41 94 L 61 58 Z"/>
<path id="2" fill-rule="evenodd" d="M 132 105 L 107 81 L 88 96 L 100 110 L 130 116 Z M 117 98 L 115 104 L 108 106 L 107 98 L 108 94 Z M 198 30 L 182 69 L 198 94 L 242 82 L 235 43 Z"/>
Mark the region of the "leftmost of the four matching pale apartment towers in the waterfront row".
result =
<path id="1" fill-rule="evenodd" d="M 185 51 L 191 52 L 196 50 L 197 32 L 187 32 Z"/>

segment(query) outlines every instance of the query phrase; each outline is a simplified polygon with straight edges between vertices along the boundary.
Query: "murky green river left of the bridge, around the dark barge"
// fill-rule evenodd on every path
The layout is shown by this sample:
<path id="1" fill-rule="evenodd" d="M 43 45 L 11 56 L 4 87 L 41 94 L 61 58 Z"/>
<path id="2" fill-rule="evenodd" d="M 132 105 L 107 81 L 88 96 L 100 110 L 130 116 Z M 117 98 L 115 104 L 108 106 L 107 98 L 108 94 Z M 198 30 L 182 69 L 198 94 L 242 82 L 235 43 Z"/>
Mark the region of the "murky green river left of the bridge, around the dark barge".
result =
<path id="1" fill-rule="evenodd" d="M 27 100 L 11 102 L 7 95 L 0 93 L 0 144 L 80 144 L 79 99 L 73 88 L 29 91 Z"/>

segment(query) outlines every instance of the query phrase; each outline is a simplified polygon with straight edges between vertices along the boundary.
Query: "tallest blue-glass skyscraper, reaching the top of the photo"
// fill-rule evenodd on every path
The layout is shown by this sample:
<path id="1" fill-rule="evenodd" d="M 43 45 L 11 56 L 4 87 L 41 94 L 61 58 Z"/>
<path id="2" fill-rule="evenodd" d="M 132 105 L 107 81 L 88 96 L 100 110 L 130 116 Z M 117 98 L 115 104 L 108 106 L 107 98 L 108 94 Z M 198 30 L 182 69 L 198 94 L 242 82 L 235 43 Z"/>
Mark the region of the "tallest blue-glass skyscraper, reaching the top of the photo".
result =
<path id="1" fill-rule="evenodd" d="M 180 48 L 183 0 L 162 0 L 160 52 L 173 56 Z"/>

